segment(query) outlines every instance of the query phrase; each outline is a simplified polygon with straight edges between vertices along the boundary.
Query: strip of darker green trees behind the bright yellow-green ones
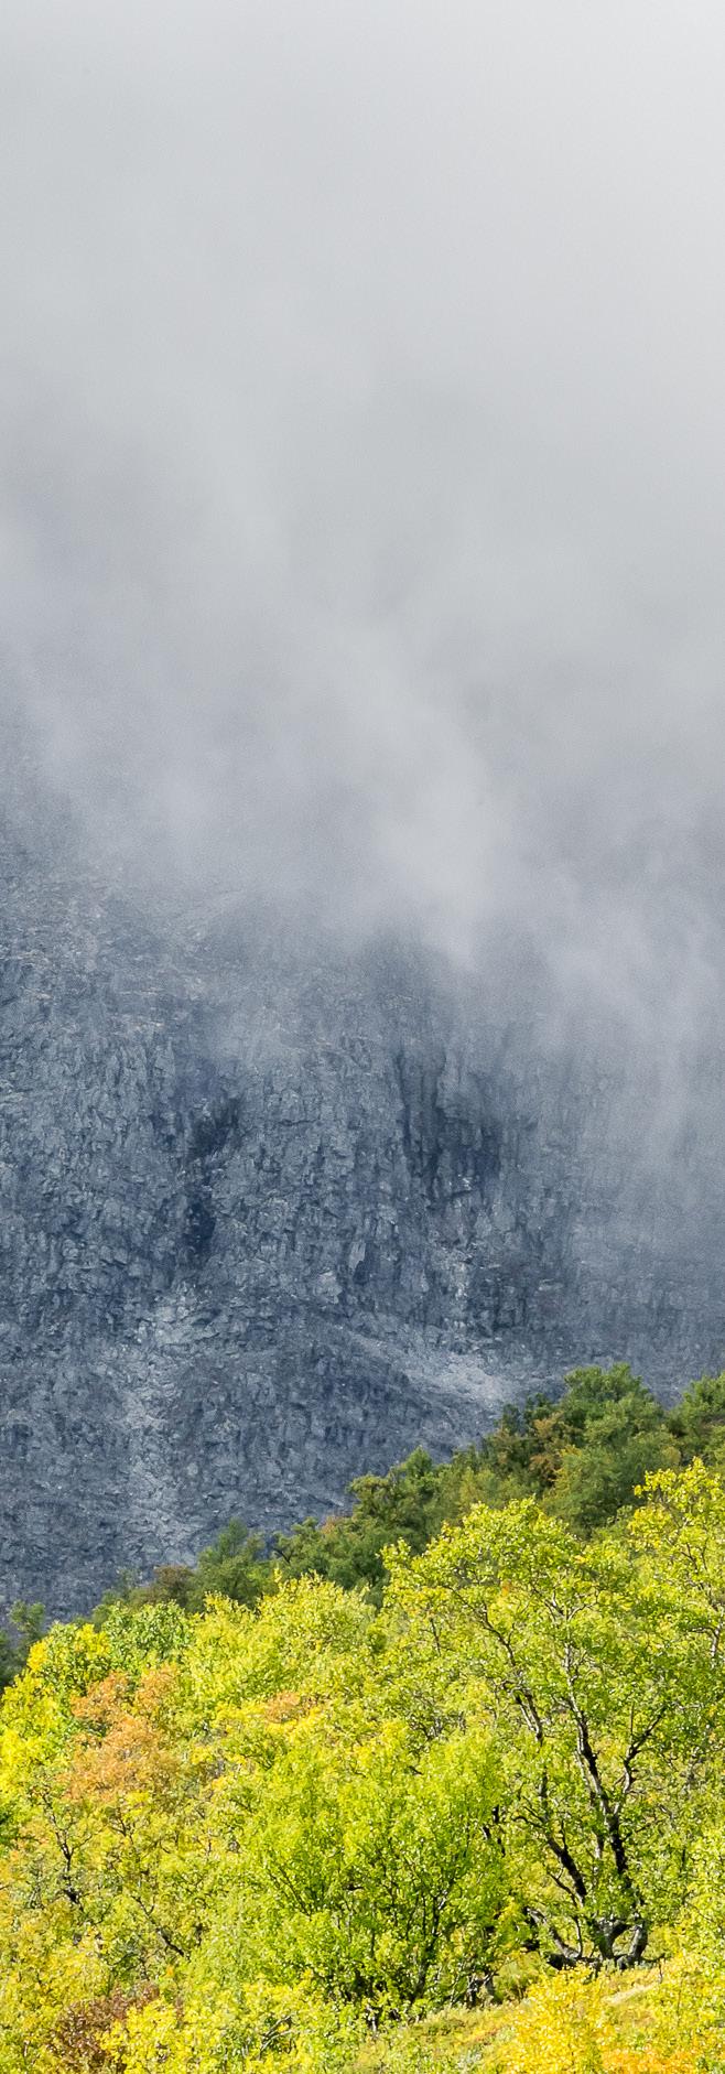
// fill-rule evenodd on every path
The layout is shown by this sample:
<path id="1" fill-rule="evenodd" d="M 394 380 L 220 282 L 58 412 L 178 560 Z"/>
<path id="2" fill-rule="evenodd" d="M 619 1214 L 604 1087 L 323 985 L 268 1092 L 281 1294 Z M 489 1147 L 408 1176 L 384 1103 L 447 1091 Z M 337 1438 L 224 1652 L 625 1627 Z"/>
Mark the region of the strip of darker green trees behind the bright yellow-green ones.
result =
<path id="1" fill-rule="evenodd" d="M 539 1394 L 522 1410 L 510 1406 L 479 1448 L 464 1448 L 450 1462 L 433 1462 L 416 1448 L 385 1477 L 356 1477 L 350 1512 L 302 1520 L 276 1535 L 269 1555 L 257 1535 L 232 1520 L 195 1568 L 168 1564 L 147 1585 L 122 1578 L 99 1618 L 118 1597 L 128 1605 L 174 1599 L 186 1611 L 201 1611 L 207 1593 L 222 1591 L 238 1605 L 257 1605 L 278 1589 L 278 1576 L 325 1576 L 344 1591 L 367 1591 L 379 1605 L 383 1549 L 394 1541 L 404 1539 L 421 1553 L 474 1504 L 505 1506 L 528 1495 L 574 1533 L 592 1535 L 634 1502 L 650 1470 L 675 1468 L 692 1454 L 719 1460 L 719 1446 L 725 1460 L 725 1377 L 692 1383 L 667 1417 L 624 1363 L 572 1369 L 557 1400 Z"/>

